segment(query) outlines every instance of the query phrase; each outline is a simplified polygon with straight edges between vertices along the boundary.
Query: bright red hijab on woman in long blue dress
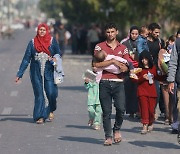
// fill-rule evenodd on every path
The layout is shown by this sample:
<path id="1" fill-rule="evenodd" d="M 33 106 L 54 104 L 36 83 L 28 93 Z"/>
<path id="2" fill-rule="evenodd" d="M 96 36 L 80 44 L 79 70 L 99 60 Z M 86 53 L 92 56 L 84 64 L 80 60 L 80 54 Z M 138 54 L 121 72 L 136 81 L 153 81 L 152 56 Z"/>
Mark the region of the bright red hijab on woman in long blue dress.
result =
<path id="1" fill-rule="evenodd" d="M 46 34 L 44 36 L 39 35 L 39 29 L 41 27 L 46 28 Z M 34 46 L 38 52 L 45 52 L 50 55 L 49 46 L 51 44 L 51 35 L 49 33 L 49 27 L 45 23 L 39 24 L 37 28 L 37 35 L 34 38 Z"/>

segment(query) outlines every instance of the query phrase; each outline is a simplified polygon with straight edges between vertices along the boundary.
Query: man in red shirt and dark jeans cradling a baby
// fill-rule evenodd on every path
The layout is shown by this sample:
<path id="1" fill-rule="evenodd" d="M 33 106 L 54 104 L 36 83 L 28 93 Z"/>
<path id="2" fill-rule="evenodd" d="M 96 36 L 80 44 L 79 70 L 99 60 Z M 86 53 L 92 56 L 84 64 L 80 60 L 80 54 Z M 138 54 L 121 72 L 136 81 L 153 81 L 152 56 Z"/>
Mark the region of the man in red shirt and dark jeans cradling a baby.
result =
<path id="1" fill-rule="evenodd" d="M 120 44 L 116 37 L 118 35 L 118 29 L 114 23 L 108 23 L 105 26 L 106 41 L 98 43 L 95 46 L 94 54 L 98 51 L 105 51 L 107 54 L 123 57 L 128 60 L 128 49 L 126 46 Z M 128 71 L 128 67 L 121 62 L 114 59 L 103 62 L 94 62 L 94 67 L 106 67 L 114 64 L 120 67 L 122 72 Z M 113 139 L 115 143 L 121 142 L 121 125 L 123 123 L 123 115 L 125 111 L 125 92 L 123 83 L 123 73 L 113 74 L 107 71 L 103 71 L 102 77 L 99 83 L 99 99 L 103 111 L 103 128 L 105 132 L 105 146 L 112 145 L 112 127 L 111 127 L 111 114 L 112 104 L 114 101 L 114 107 L 116 109 L 115 123 L 113 127 Z"/>

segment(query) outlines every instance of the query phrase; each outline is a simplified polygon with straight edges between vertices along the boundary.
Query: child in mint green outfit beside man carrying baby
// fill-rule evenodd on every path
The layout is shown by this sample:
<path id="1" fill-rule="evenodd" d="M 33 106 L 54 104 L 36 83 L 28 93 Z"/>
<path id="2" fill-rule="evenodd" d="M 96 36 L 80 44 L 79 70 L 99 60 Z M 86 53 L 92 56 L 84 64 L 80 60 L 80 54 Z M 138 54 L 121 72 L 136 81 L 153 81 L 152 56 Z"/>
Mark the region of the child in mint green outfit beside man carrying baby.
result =
<path id="1" fill-rule="evenodd" d="M 84 86 L 86 89 L 88 89 L 88 125 L 92 126 L 95 130 L 100 130 L 102 109 L 99 101 L 99 83 L 92 81 L 85 76 Z"/>

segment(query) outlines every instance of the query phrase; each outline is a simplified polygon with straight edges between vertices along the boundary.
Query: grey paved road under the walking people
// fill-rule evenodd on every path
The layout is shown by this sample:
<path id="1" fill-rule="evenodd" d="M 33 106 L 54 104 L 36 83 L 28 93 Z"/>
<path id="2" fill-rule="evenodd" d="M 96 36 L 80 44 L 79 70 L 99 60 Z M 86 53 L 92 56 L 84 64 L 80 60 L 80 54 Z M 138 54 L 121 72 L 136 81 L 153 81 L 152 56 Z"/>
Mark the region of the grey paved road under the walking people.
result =
<path id="1" fill-rule="evenodd" d="M 18 31 L 15 39 L 0 40 L 0 153 L 1 154 L 179 154 L 180 145 L 170 127 L 156 121 L 154 132 L 141 135 L 137 119 L 125 116 L 123 141 L 104 147 L 103 130 L 87 126 L 87 91 L 82 74 L 91 57 L 66 54 L 63 58 L 64 83 L 59 87 L 55 120 L 44 125 L 33 123 L 33 92 L 29 70 L 22 83 L 14 84 L 32 30 Z"/>

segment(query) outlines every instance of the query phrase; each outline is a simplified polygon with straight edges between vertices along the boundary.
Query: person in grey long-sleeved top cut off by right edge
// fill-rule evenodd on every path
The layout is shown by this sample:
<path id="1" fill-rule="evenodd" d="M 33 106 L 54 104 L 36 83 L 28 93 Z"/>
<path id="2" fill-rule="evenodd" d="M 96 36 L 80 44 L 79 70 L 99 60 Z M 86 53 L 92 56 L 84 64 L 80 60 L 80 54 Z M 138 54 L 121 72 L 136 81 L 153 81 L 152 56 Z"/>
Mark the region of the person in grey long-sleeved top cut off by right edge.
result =
<path id="1" fill-rule="evenodd" d="M 178 109 L 178 121 L 180 122 L 180 38 L 178 37 L 175 41 L 171 52 L 171 58 L 169 61 L 168 67 L 168 77 L 167 81 L 168 90 L 170 93 L 173 93 L 174 82 L 177 83 L 177 109 Z M 178 126 L 178 143 L 180 144 L 180 123 Z"/>

